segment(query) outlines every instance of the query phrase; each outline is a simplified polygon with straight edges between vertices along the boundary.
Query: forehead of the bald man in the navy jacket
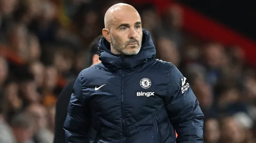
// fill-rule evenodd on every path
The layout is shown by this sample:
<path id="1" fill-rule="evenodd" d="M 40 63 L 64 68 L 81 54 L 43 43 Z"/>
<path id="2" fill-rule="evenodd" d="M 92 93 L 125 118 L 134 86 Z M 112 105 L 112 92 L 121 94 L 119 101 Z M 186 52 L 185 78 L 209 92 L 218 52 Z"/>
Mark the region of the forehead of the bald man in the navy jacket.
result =
<path id="1" fill-rule="evenodd" d="M 113 24 L 119 25 L 121 23 L 128 23 L 128 24 L 134 24 L 136 22 L 140 22 L 140 16 L 139 13 L 136 11 L 134 12 L 125 12 L 120 11 L 113 14 Z"/>

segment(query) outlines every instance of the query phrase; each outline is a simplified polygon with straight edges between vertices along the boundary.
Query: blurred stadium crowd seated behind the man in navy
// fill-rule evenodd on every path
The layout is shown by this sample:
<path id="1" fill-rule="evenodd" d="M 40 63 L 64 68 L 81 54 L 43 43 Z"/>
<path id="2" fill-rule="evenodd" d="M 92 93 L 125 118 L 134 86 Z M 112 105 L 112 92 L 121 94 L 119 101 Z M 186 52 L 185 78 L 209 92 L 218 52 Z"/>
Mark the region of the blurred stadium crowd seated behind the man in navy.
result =
<path id="1" fill-rule="evenodd" d="M 87 47 L 115 3 L 0 0 L 0 143 L 52 143 L 57 96 L 91 65 Z M 134 6 L 157 58 L 176 65 L 198 98 L 205 142 L 255 143 L 256 77 L 240 47 L 183 32 L 179 7 L 160 16 L 152 5 Z"/>

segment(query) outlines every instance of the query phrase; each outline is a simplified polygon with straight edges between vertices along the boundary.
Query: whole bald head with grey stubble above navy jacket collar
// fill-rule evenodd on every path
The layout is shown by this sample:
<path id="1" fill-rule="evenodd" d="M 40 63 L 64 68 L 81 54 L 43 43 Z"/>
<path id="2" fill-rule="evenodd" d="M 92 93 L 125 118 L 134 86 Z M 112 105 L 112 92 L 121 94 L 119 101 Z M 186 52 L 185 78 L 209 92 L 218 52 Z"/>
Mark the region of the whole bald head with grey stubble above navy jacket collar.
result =
<path id="1" fill-rule="evenodd" d="M 141 19 L 134 7 L 125 3 L 113 5 L 105 14 L 104 24 L 102 35 L 110 43 L 112 53 L 134 55 L 140 51 Z"/>

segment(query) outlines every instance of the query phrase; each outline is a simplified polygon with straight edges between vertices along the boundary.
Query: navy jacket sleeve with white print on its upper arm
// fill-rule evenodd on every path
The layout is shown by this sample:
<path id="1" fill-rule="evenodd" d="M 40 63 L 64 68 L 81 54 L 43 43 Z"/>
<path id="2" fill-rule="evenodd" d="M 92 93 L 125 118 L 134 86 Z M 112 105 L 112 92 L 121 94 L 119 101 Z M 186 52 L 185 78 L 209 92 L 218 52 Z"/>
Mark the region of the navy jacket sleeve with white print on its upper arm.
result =
<path id="1" fill-rule="evenodd" d="M 203 143 L 203 118 L 186 78 L 172 65 L 168 77 L 166 109 L 178 137 L 176 143 Z"/>

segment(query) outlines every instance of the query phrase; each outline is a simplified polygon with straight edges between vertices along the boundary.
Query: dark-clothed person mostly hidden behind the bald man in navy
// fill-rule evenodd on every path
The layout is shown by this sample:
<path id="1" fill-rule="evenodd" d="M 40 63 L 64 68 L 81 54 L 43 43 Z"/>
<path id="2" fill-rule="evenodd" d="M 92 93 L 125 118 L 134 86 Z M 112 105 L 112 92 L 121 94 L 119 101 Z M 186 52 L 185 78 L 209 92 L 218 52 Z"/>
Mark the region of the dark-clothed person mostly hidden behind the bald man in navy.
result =
<path id="1" fill-rule="evenodd" d="M 90 60 L 92 65 L 98 64 L 101 61 L 99 60 L 99 51 L 98 44 L 99 40 L 103 35 L 96 37 L 90 44 Z M 75 79 L 71 80 L 61 91 L 58 101 L 56 103 L 56 115 L 55 115 L 55 131 L 54 131 L 54 143 L 65 143 L 65 131 L 63 129 L 63 124 L 67 115 L 67 105 L 70 101 L 72 94 L 73 86 Z"/>

